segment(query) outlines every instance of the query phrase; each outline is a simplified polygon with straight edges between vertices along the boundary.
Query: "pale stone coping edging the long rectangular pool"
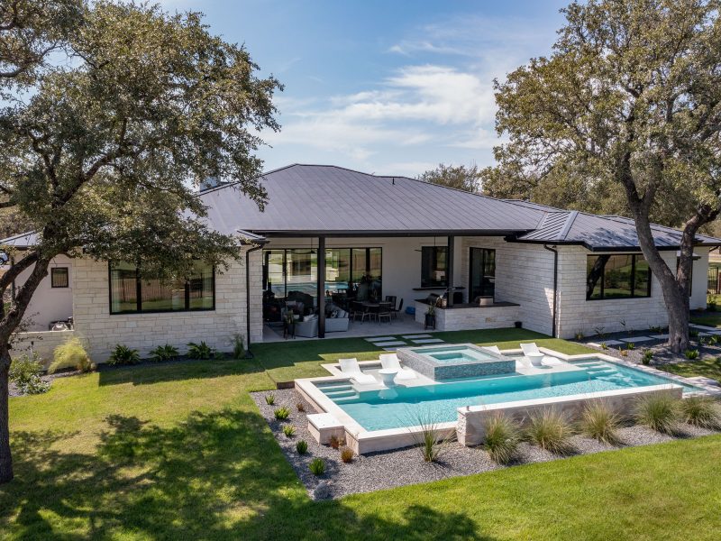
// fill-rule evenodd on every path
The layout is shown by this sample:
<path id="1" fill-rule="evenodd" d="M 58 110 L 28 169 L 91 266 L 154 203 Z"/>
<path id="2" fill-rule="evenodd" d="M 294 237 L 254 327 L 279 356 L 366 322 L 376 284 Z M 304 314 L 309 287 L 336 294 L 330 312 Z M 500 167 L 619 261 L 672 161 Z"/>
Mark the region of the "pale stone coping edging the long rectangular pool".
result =
<path id="1" fill-rule="evenodd" d="M 707 395 L 707 396 L 721 396 L 721 389 L 700 383 L 697 381 L 691 381 L 688 378 L 684 378 L 682 376 L 678 376 L 676 374 L 671 374 L 669 372 L 660 371 L 655 368 L 652 368 L 650 366 L 644 366 L 643 364 L 635 364 L 634 362 L 627 362 L 623 361 L 621 359 L 617 359 L 616 357 L 612 357 L 610 355 L 604 354 L 604 353 L 596 353 L 596 352 L 589 352 L 589 353 L 580 353 L 575 355 L 568 355 L 565 353 L 557 352 L 555 350 L 552 350 L 547 347 L 539 347 L 539 350 L 542 353 L 545 353 L 549 356 L 556 357 L 557 359 L 561 359 L 561 361 L 565 362 L 577 362 L 577 361 L 583 361 L 584 359 L 600 359 L 602 361 L 606 362 L 612 362 L 614 364 L 618 364 L 621 366 L 625 366 L 626 368 L 632 368 L 637 371 L 643 371 L 648 374 L 652 374 L 655 376 L 659 376 L 662 378 L 665 378 L 667 380 L 671 380 L 676 383 L 680 383 L 683 385 L 689 385 L 691 387 L 698 388 L 698 392 L 690 392 L 685 394 L 685 397 L 689 396 L 697 396 L 697 395 Z M 502 350 L 503 354 L 517 354 L 517 353 L 523 353 L 523 350 L 521 349 L 510 349 L 510 350 Z M 380 362 L 373 360 L 373 361 L 362 361 L 359 362 L 360 367 L 370 367 L 370 366 L 379 366 Z M 330 413 L 334 417 L 338 419 L 342 423 L 342 425 L 345 427 L 345 434 L 346 434 L 346 445 L 349 445 L 351 449 L 356 454 L 366 454 L 366 453 L 372 453 L 375 451 L 387 451 L 391 449 L 397 449 L 401 447 L 406 447 L 409 445 L 415 445 L 417 441 L 417 437 L 420 433 L 423 431 L 422 426 L 402 426 L 397 428 L 386 428 L 382 430 L 367 430 L 363 426 L 360 426 L 360 424 L 350 415 L 348 415 L 340 406 L 335 404 L 332 399 L 329 399 L 327 396 L 325 396 L 324 392 L 320 390 L 316 385 L 315 382 L 327 382 L 327 381 L 334 381 L 334 382 L 351 382 L 351 378 L 345 376 L 342 374 L 342 372 L 337 368 L 337 363 L 325 363 L 321 366 L 324 367 L 325 370 L 331 372 L 331 375 L 329 376 L 320 376 L 315 378 L 301 378 L 295 381 L 296 384 L 296 390 L 300 392 L 303 397 L 310 402 L 313 407 L 318 412 L 325 412 Z M 441 383 L 443 384 L 443 383 Z M 648 386 L 648 387 L 663 387 L 665 389 L 672 389 L 678 387 L 678 385 L 674 385 L 673 383 L 670 384 L 661 384 L 659 386 Z M 642 388 L 645 389 L 645 388 Z M 570 395 L 569 397 L 566 397 L 567 399 L 570 399 L 571 397 L 578 399 L 579 397 L 584 398 L 591 398 L 591 399 L 602 399 L 604 397 L 613 397 L 617 394 L 624 394 L 625 390 L 609 390 L 609 391 L 598 391 L 595 393 L 583 393 L 581 395 Z M 515 402 L 505 402 L 504 405 L 506 408 L 515 408 L 519 404 L 525 405 L 525 406 L 532 406 L 535 404 L 546 404 L 547 401 L 550 400 L 548 398 L 544 399 L 530 399 L 530 400 L 516 400 Z M 551 405 L 549 403 L 548 405 Z M 465 410 L 466 408 L 484 408 L 483 406 L 463 406 L 461 408 L 457 408 L 458 410 Z M 456 427 L 458 426 L 458 420 L 454 421 L 448 421 L 444 423 L 435 423 L 434 427 L 438 430 L 448 430 L 449 432 L 455 431 Z"/>

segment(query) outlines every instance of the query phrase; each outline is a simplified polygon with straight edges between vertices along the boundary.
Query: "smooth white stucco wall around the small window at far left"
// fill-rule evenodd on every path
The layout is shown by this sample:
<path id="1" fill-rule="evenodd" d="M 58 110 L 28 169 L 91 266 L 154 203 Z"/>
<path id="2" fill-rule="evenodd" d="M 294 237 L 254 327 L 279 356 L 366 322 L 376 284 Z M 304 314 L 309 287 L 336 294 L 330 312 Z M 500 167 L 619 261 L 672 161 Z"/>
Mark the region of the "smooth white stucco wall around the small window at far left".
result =
<path id="1" fill-rule="evenodd" d="M 48 276 L 41 280 L 38 289 L 32 296 L 30 305 L 25 311 L 26 331 L 47 331 L 50 321 L 68 319 L 73 315 L 73 259 L 59 255 L 50 262 Z M 53 267 L 68 268 L 68 288 L 52 288 L 50 286 L 50 269 Z M 20 288 L 28 279 L 32 267 L 20 273 L 15 280 L 15 287 Z"/>

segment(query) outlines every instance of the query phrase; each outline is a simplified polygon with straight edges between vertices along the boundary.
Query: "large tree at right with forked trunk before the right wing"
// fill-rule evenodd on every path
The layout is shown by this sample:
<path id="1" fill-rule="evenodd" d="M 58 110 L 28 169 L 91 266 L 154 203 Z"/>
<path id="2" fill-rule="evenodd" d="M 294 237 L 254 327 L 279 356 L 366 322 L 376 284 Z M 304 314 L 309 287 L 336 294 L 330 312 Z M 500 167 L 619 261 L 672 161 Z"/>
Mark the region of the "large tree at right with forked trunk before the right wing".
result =
<path id="1" fill-rule="evenodd" d="M 570 172 L 623 197 L 661 283 L 674 352 L 689 347 L 695 235 L 721 209 L 721 23 L 716 0 L 589 0 L 563 10 L 548 58 L 496 82 L 496 178 Z M 577 180 L 578 181 L 578 180 Z M 683 215 L 678 271 L 653 242 L 653 212 Z"/>

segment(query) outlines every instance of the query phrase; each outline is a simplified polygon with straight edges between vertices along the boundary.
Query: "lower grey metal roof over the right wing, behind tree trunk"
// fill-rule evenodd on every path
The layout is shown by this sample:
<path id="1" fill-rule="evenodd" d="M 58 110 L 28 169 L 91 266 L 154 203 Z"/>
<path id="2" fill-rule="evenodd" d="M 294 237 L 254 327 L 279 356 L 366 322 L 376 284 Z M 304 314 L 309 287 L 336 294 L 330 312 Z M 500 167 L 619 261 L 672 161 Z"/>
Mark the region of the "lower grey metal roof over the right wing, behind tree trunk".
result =
<path id="1" fill-rule="evenodd" d="M 527 201 L 513 201 L 518 206 L 545 209 L 546 215 L 538 229 L 513 239 L 520 243 L 580 244 L 594 251 L 638 250 L 638 235 L 634 220 L 625 216 L 591 215 L 579 211 L 561 210 L 552 206 Z M 681 232 L 672 227 L 652 225 L 653 240 L 659 249 L 676 249 L 680 245 Z M 697 234 L 697 245 L 716 246 L 721 239 Z"/>

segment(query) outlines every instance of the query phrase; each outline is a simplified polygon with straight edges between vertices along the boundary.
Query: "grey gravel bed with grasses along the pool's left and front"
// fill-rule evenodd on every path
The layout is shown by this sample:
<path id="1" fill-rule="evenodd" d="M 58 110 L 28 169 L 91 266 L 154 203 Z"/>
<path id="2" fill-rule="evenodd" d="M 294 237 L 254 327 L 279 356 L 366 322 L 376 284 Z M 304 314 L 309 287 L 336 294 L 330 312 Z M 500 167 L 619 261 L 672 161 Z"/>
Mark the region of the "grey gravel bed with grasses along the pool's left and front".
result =
<path id="1" fill-rule="evenodd" d="M 272 406 L 265 401 L 269 394 L 275 397 Z M 446 445 L 438 463 L 425 463 L 420 452 L 413 447 L 355 456 L 351 463 L 342 463 L 338 450 L 329 445 L 318 445 L 308 432 L 306 414 L 315 413 L 315 410 L 296 390 L 251 392 L 251 398 L 268 422 L 287 461 L 300 481 L 306 485 L 308 494 L 316 500 L 340 498 L 347 494 L 379 491 L 507 467 L 494 463 L 482 447 L 465 447 L 457 442 Z M 303 404 L 305 411 L 298 411 L 298 403 Z M 291 412 L 285 421 L 277 421 L 273 416 L 273 411 L 281 406 L 287 407 Z M 290 438 L 282 432 L 282 426 L 287 424 L 296 429 L 296 434 Z M 693 426 L 684 425 L 682 428 L 683 437 L 716 434 L 714 431 Z M 625 445 L 648 445 L 674 439 L 644 426 L 627 426 L 620 430 L 620 434 Z M 296 451 L 296 443 L 301 439 L 308 443 L 308 453 L 305 455 L 299 455 Z M 575 454 L 591 454 L 617 448 L 580 435 L 572 436 L 572 444 Z M 325 472 L 320 477 L 316 477 L 308 469 L 310 461 L 318 456 L 325 461 Z M 544 451 L 536 445 L 523 442 L 518 447 L 514 465 L 543 463 L 561 458 L 563 457 Z"/>

